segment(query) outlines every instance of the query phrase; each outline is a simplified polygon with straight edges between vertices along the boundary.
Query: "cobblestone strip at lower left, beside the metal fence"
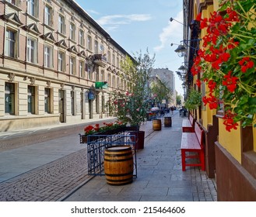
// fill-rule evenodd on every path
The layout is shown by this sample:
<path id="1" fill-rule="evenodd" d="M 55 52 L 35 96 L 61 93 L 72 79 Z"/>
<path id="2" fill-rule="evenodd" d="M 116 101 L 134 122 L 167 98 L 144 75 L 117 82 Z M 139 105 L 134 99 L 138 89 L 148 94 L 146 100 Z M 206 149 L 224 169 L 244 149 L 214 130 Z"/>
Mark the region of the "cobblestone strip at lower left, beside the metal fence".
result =
<path id="1" fill-rule="evenodd" d="M 91 178 L 86 149 L 0 183 L 0 201 L 54 202 Z"/>

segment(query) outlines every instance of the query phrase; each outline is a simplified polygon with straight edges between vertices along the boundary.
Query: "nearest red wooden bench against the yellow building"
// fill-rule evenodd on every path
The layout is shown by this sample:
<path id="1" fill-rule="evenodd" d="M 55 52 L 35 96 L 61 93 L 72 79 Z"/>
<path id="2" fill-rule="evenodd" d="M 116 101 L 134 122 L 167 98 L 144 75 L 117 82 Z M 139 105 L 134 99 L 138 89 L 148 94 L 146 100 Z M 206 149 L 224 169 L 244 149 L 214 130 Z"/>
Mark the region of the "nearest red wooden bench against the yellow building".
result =
<path id="1" fill-rule="evenodd" d="M 195 133 L 182 133 L 181 137 L 181 164 L 182 171 L 188 166 L 199 166 L 205 171 L 205 151 L 204 151 L 204 130 L 195 122 Z M 186 153 L 193 153 L 186 155 Z M 186 162 L 187 158 L 197 158 L 198 162 Z"/>

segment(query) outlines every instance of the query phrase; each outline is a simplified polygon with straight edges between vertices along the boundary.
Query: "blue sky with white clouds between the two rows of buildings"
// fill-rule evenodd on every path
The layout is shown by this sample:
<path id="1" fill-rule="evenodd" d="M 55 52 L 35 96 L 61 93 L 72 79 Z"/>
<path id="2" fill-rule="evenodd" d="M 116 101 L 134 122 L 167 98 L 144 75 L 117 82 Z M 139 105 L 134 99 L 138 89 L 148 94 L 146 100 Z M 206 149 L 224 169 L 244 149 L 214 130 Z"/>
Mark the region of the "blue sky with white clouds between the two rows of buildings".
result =
<path id="1" fill-rule="evenodd" d="M 75 0 L 121 47 L 132 56 L 149 49 L 156 54 L 154 68 L 174 71 L 176 90 L 183 95 L 181 81 L 175 71 L 183 58 L 170 43 L 180 43 L 183 26 L 182 0 Z"/>

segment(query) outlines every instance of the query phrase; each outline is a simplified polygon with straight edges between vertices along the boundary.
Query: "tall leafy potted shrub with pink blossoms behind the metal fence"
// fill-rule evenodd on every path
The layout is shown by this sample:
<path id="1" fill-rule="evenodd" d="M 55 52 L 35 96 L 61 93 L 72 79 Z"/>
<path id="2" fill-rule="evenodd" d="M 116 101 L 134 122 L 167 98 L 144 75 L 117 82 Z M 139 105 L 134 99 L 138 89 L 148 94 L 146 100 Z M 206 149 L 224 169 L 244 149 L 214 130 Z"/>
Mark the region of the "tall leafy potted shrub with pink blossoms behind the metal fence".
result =
<path id="1" fill-rule="evenodd" d="M 128 81 L 128 90 L 114 91 L 110 94 L 108 102 L 110 115 L 127 123 L 135 132 L 137 149 L 144 148 L 145 132 L 140 131 L 139 128 L 146 120 L 146 112 L 149 108 L 147 84 L 149 69 L 153 62 L 154 57 L 150 59 L 149 53 L 144 54 L 143 57 L 142 53 L 139 53 L 139 57 L 135 57 L 135 60 L 126 57 L 121 63 L 121 68 L 124 71 L 123 77 Z"/>

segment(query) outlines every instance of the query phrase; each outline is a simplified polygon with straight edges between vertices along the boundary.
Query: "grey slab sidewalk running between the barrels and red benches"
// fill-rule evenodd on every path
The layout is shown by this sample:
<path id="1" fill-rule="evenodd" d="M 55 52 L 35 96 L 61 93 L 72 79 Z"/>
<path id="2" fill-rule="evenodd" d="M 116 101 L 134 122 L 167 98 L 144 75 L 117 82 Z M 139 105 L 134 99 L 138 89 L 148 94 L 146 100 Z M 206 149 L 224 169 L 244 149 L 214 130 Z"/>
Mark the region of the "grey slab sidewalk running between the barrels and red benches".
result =
<path id="1" fill-rule="evenodd" d="M 214 202 L 217 199 L 214 180 L 198 167 L 181 171 L 181 122 L 176 113 L 172 127 L 163 127 L 146 138 L 143 150 L 137 152 L 138 177 L 132 184 L 111 186 L 104 176 L 94 177 L 67 202 Z M 162 122 L 163 123 L 163 122 Z M 148 122 L 147 127 L 152 128 Z"/>

